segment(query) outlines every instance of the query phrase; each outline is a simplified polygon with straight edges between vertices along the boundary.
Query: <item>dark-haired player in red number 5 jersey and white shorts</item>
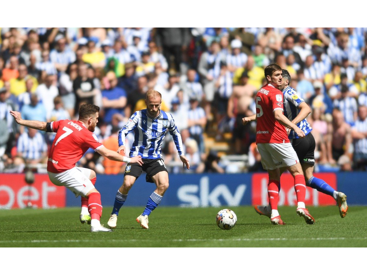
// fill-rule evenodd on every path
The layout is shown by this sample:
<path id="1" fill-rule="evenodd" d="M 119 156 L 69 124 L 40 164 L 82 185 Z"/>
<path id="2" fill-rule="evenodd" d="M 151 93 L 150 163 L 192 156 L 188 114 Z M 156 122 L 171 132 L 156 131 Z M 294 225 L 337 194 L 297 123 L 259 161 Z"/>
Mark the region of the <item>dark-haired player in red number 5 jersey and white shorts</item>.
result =
<path id="1" fill-rule="evenodd" d="M 313 224 L 315 219 L 305 206 L 306 183 L 297 154 L 289 142 L 286 128 L 290 128 L 301 138 L 305 133 L 283 114 L 283 92 L 277 87 L 282 85 L 281 67 L 270 64 L 265 68 L 266 84 L 256 94 L 256 114 L 244 117 L 243 124 L 257 121 L 256 143 L 261 155 L 261 164 L 268 170 L 268 197 L 272 209 L 272 224 L 285 224 L 278 212 L 280 190 L 280 167 L 286 167 L 294 177 L 294 189 L 297 195 L 297 214 L 304 217 L 306 223 Z M 259 213 L 258 209 L 257 212 Z"/>

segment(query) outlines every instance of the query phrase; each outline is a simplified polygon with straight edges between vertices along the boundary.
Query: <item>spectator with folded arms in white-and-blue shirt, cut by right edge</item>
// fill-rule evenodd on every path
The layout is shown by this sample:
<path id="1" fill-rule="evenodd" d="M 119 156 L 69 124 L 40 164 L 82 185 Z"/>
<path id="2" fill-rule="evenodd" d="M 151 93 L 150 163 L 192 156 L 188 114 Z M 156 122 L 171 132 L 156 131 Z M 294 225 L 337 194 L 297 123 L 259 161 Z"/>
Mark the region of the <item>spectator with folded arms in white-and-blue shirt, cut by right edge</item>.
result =
<path id="1" fill-rule="evenodd" d="M 358 120 L 352 128 L 354 141 L 354 161 L 357 170 L 366 171 L 367 168 L 367 107 L 360 106 Z"/>

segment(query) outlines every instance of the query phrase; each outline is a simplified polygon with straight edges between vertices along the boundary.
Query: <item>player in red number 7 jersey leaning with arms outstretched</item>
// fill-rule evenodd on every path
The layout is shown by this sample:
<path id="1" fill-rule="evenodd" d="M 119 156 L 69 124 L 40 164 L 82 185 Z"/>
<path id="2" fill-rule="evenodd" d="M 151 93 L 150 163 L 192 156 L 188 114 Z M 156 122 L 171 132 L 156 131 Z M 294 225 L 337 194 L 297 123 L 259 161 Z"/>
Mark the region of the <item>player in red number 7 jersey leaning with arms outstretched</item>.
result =
<path id="1" fill-rule="evenodd" d="M 18 124 L 46 132 L 55 132 L 56 136 L 48 154 L 47 173 L 53 184 L 65 186 L 76 197 L 84 197 L 85 206 L 91 216 L 91 232 L 112 231 L 101 225 L 102 215 L 101 194 L 94 187 L 95 172 L 91 169 L 76 167 L 75 164 L 89 147 L 98 151 L 103 157 L 123 162 L 143 164 L 140 156 L 127 158 L 109 150 L 99 142 L 94 135 L 94 128 L 98 122 L 99 107 L 84 104 L 79 109 L 79 120 L 59 120 L 41 122 L 23 120 L 21 113 L 10 111 Z M 82 199 L 83 203 L 83 199 Z"/>

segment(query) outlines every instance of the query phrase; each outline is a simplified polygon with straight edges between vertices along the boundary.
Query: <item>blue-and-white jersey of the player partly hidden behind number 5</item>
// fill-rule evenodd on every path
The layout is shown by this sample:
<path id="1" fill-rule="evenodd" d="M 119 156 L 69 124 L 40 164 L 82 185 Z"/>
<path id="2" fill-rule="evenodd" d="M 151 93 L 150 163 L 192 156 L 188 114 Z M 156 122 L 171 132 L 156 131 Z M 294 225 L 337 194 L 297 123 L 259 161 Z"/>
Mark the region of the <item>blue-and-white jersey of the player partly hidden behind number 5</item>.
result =
<path id="1" fill-rule="evenodd" d="M 284 106 L 284 115 L 288 118 L 288 120 L 292 121 L 295 117 L 297 117 L 299 113 L 298 106 L 302 102 L 305 102 L 302 98 L 300 98 L 292 87 L 288 86 L 283 90 L 283 106 Z M 306 118 L 297 123 L 299 129 L 304 131 L 305 135 L 312 131 L 312 128 Z M 289 139 L 298 139 L 299 136 L 292 130 L 289 134 Z"/>

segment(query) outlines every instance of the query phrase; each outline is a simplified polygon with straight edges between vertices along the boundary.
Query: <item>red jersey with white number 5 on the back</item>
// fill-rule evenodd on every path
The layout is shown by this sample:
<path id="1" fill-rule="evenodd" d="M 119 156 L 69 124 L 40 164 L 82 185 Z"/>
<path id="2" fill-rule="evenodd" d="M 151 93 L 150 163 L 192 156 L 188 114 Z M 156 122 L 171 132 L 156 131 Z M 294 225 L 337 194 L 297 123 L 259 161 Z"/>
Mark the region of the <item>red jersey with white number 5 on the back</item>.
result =
<path id="1" fill-rule="evenodd" d="M 273 111 L 283 111 L 283 92 L 272 84 L 259 89 L 256 102 L 256 143 L 287 143 L 289 142 L 286 128 L 275 120 Z"/>

